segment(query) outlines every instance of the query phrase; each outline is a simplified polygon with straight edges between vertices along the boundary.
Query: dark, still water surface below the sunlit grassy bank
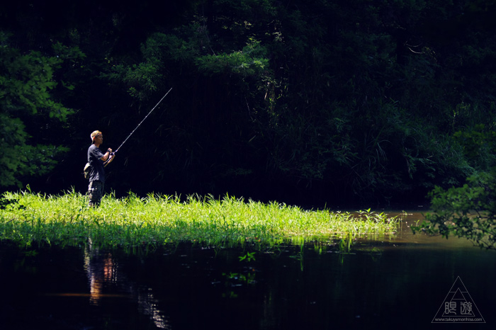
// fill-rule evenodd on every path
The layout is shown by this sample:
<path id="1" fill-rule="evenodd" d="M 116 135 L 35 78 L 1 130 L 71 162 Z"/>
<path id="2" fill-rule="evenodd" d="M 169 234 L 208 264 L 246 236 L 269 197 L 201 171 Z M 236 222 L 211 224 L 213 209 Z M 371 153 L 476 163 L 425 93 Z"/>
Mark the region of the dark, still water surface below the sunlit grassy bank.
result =
<path id="1" fill-rule="evenodd" d="M 413 236 L 419 217 L 350 252 L 310 243 L 250 261 L 0 246 L 0 329 L 495 329 L 496 251 Z M 458 277 L 485 324 L 432 323 Z"/>

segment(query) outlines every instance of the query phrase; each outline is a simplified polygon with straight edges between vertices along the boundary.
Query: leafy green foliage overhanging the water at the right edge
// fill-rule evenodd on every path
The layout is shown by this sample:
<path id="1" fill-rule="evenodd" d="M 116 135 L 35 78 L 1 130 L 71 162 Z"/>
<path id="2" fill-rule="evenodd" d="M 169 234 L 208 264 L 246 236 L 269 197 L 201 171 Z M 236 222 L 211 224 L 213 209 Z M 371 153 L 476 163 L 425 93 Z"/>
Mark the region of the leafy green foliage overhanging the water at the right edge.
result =
<path id="1" fill-rule="evenodd" d="M 496 249 L 496 161 L 492 155 L 496 133 L 493 127 L 487 130 L 480 124 L 473 130 L 456 132 L 453 140 L 461 144 L 463 153 L 479 171 L 469 176 L 461 187 L 436 186 L 429 193 L 432 213 L 412 230 L 441 234 L 446 239 L 464 237 L 481 248 Z"/>

